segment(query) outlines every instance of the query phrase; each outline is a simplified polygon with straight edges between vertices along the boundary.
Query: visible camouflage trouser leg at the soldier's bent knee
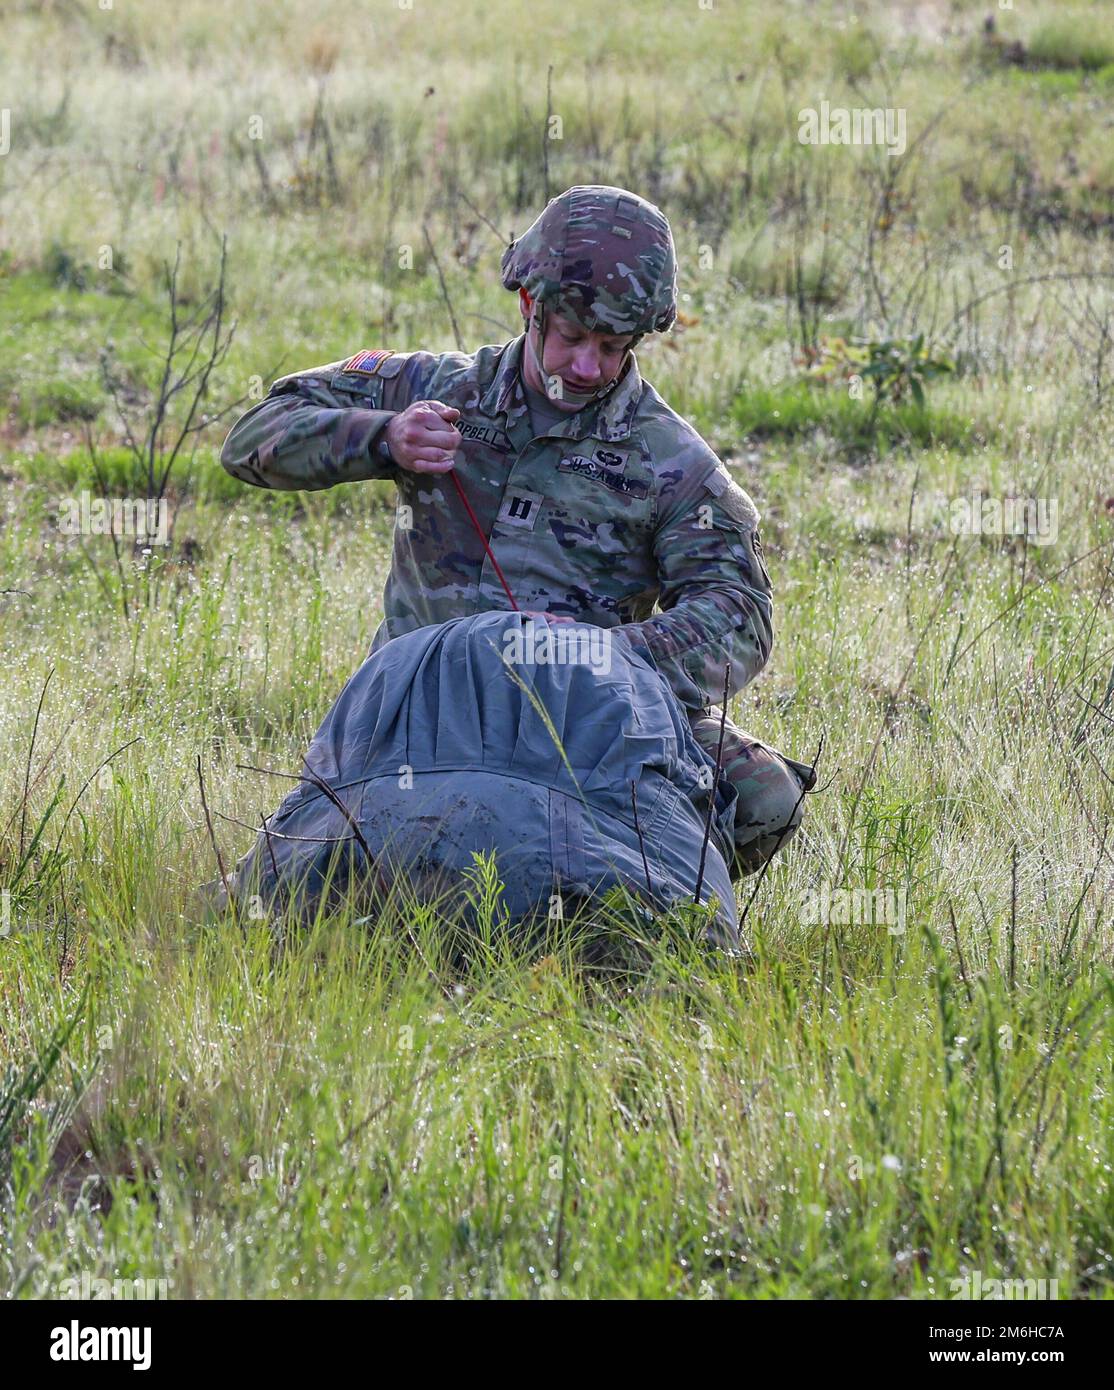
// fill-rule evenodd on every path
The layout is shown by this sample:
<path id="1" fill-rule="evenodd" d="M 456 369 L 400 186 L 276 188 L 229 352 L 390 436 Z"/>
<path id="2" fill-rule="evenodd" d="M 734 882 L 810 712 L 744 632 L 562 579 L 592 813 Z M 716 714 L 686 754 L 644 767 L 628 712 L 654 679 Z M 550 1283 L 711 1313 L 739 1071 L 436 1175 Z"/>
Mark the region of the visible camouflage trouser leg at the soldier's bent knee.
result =
<path id="1" fill-rule="evenodd" d="M 716 756 L 720 710 L 693 717 L 693 737 Z M 730 720 L 723 727 L 723 774 L 738 792 L 734 817 L 732 877 L 755 873 L 797 834 L 804 813 L 802 792 L 815 785 L 808 763 L 794 762 Z"/>

